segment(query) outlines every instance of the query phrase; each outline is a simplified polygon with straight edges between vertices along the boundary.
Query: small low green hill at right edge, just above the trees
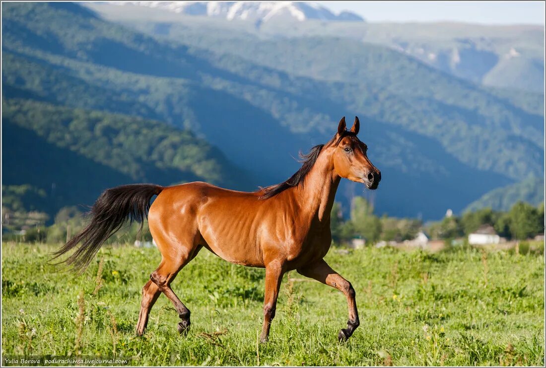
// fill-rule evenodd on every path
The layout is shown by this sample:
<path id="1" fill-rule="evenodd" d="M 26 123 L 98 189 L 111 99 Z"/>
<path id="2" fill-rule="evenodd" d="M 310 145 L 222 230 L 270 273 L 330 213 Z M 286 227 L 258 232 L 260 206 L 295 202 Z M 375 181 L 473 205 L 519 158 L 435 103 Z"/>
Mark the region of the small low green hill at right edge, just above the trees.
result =
<path id="1" fill-rule="evenodd" d="M 543 202 L 544 178 L 531 176 L 519 183 L 494 189 L 468 205 L 465 211 L 476 211 L 485 207 L 496 211 L 508 211 L 518 201 L 524 201 L 533 206 Z"/>

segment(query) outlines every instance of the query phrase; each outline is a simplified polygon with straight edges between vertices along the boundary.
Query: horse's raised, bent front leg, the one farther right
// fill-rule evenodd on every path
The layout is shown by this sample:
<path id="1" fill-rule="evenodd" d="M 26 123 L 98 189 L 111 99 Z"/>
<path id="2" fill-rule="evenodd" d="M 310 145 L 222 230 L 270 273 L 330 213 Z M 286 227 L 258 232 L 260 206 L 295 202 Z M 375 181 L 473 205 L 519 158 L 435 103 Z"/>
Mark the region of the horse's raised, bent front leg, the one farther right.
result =
<path id="1" fill-rule="evenodd" d="M 336 271 L 331 269 L 328 263 L 324 262 L 324 259 L 319 260 L 313 264 L 307 265 L 303 268 L 299 268 L 298 273 L 307 277 L 314 278 L 324 284 L 334 287 L 345 294 L 347 298 L 347 304 L 349 305 L 349 320 L 347 322 L 347 328 L 340 330 L 337 339 L 340 341 L 346 341 L 351 337 L 354 330 L 360 325 L 358 319 L 357 301 L 355 299 L 355 292 L 350 282 L 341 277 Z"/>

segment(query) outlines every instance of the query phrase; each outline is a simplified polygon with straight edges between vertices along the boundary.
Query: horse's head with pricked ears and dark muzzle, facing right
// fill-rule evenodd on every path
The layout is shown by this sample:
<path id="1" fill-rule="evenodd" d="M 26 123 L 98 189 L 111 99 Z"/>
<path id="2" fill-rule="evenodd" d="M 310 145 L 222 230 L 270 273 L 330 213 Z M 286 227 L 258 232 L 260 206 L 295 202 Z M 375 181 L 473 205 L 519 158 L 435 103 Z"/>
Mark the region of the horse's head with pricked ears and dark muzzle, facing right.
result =
<path id="1" fill-rule="evenodd" d="M 354 118 L 353 127 L 347 130 L 345 116 L 337 127 L 337 134 L 328 145 L 331 149 L 334 170 L 346 179 L 364 183 L 368 189 L 377 189 L 381 181 L 381 171 L 370 162 L 367 146 L 358 139 L 360 128 L 358 117 Z"/>

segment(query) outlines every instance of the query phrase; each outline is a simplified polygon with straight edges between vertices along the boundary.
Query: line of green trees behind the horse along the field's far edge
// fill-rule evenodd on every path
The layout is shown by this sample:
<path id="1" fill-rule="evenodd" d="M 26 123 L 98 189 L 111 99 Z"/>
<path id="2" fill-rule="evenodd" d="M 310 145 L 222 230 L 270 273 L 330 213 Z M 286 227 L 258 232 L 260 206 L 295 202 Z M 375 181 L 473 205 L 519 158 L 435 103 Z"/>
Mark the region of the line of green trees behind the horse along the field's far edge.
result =
<path id="1" fill-rule="evenodd" d="M 468 236 L 484 225 L 491 225 L 498 235 L 508 240 L 525 240 L 544 233 L 544 202 L 537 207 L 518 202 L 504 212 L 484 208 L 428 223 L 416 218 L 378 216 L 373 205 L 363 197 L 354 197 L 348 212 L 346 218 L 338 202 L 332 207 L 330 228 L 334 245 L 347 244 L 352 239 L 365 239 L 368 244 L 378 241 L 402 242 L 414 239 L 420 231 L 427 233 L 431 239 L 456 239 Z M 8 230 L 2 234 L 4 241 L 61 243 L 80 232 L 86 224 L 84 213 L 76 206 L 63 207 L 50 226 L 45 226 L 47 216 L 40 216 L 36 211 L 27 212 L 26 215 L 13 211 L 5 213 L 9 214 L 9 221 L 6 223 L 3 218 L 4 229 Z M 21 232 L 19 227 L 24 231 Z M 133 224 L 125 231 L 114 234 L 109 242 L 133 243 L 135 240 L 152 240 L 147 223 L 141 231 L 139 224 Z"/>

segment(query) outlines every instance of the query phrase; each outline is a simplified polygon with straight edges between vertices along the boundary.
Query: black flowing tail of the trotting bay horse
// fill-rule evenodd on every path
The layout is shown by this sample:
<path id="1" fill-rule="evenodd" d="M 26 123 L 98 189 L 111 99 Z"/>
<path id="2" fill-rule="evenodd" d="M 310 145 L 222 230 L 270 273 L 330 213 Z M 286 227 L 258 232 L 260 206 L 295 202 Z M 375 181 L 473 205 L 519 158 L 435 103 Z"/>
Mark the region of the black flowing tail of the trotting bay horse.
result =
<path id="1" fill-rule="evenodd" d="M 148 216 L 150 200 L 161 193 L 163 187 L 154 184 L 132 184 L 106 189 L 97 199 L 89 214 L 91 222 L 85 229 L 54 253 L 54 259 L 81 246 L 63 262 L 73 271 L 85 271 L 91 259 L 110 236 L 119 230 L 127 219 L 143 223 Z M 140 228 L 142 229 L 142 226 Z"/>

